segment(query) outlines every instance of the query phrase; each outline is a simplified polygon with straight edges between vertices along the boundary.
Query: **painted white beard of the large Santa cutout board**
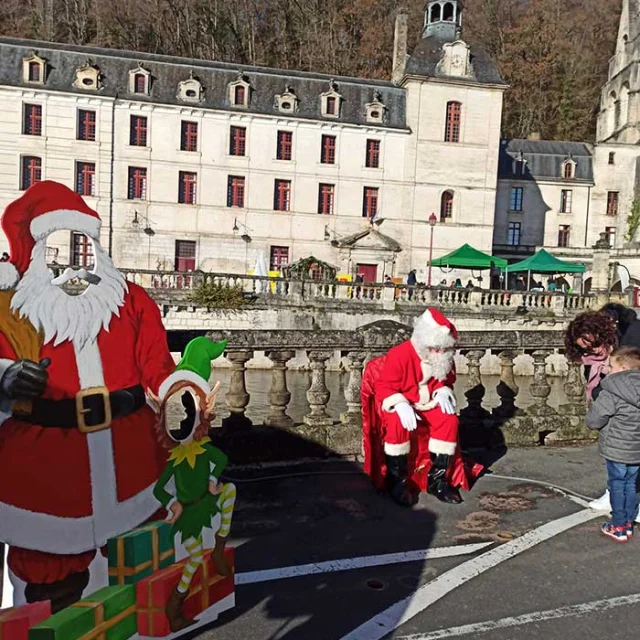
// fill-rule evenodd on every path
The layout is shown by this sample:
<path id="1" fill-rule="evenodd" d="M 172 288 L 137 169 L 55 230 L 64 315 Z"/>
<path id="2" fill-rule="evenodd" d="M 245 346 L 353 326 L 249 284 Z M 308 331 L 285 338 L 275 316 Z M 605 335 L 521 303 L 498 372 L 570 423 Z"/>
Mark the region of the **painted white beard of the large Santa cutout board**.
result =
<path id="1" fill-rule="evenodd" d="M 36 243 L 31 264 L 22 276 L 11 300 L 11 308 L 29 319 L 44 333 L 44 343 L 70 340 L 77 349 L 109 328 L 111 318 L 120 315 L 127 284 L 102 247 L 93 243 L 95 267 L 100 284 L 89 285 L 80 295 L 70 296 L 51 284 L 53 276 L 45 258 L 46 238 Z"/>

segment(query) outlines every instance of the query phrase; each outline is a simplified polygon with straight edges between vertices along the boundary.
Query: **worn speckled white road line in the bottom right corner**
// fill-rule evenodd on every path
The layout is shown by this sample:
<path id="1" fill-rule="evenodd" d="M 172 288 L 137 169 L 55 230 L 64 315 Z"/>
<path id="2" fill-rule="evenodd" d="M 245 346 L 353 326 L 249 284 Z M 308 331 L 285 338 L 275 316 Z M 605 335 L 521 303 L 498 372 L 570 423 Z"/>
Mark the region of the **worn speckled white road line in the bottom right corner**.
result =
<path id="1" fill-rule="evenodd" d="M 470 633 L 478 634 L 485 633 L 487 631 L 495 631 L 496 629 L 520 627 L 533 622 L 543 622 L 544 620 L 576 618 L 589 613 L 600 613 L 602 611 L 616 609 L 617 607 L 625 607 L 638 603 L 640 603 L 640 593 L 634 593 L 629 596 L 608 598 L 606 600 L 595 600 L 593 602 L 585 602 L 583 604 L 575 604 L 572 606 L 560 607 L 558 609 L 550 609 L 548 611 L 535 611 L 533 613 L 525 613 L 521 616 L 510 616 L 508 618 L 500 618 L 499 620 L 489 620 L 487 622 L 478 622 L 476 624 L 465 624 L 460 627 L 449 627 L 448 629 L 439 629 L 438 631 L 402 636 L 398 638 L 398 640 L 441 640 L 442 638 L 458 638 L 460 636 L 469 635 Z"/>

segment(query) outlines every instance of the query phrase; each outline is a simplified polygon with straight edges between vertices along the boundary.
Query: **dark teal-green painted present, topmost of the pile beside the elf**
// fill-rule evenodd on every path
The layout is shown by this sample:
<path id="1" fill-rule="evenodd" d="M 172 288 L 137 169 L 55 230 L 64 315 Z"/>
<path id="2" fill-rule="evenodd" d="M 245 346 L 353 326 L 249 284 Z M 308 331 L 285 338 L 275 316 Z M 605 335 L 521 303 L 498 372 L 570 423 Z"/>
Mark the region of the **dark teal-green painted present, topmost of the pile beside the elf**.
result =
<path id="1" fill-rule="evenodd" d="M 163 520 L 133 529 L 107 544 L 109 584 L 135 584 L 175 562 L 171 525 Z"/>

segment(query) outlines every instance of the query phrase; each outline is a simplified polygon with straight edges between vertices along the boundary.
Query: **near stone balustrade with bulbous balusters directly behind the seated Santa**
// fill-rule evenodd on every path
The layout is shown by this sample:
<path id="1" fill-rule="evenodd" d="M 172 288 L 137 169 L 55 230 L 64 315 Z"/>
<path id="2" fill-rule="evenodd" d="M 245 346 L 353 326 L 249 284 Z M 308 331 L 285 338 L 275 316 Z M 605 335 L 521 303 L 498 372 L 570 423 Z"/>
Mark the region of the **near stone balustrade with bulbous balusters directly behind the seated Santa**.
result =
<path id="1" fill-rule="evenodd" d="M 243 427 L 250 425 L 246 415 L 251 400 L 246 386 L 246 365 L 260 351 L 273 362 L 268 395 L 270 407 L 265 425 L 291 430 L 342 455 L 359 456 L 363 370 L 368 361 L 406 340 L 410 333 L 409 327 L 388 320 L 361 327 L 355 332 L 256 330 L 210 333 L 213 340 L 228 341 L 226 357 L 232 363 L 226 396 L 230 413 L 224 421 L 228 427 L 226 433 L 233 436 L 236 428 L 242 432 Z M 551 386 L 547 378 L 547 360 L 561 349 L 560 331 L 461 333 L 459 354 L 466 359 L 468 366 L 466 380 L 461 381 L 466 383 L 466 405 L 458 407 L 463 445 L 538 445 L 545 441 L 561 443 L 591 439 L 592 434 L 584 425 L 586 403 L 580 366 L 568 365 L 564 383 L 566 403 L 557 409 L 548 404 Z M 311 382 L 306 394 L 308 412 L 302 423 L 296 425 L 287 414 L 291 399 L 287 388 L 287 362 L 300 351 L 308 356 Z M 347 409 L 336 419 L 325 380 L 326 363 L 335 352 L 340 352 L 344 358 L 348 372 L 344 391 Z M 491 410 L 483 406 L 486 388 L 480 366 L 487 352 L 496 354 L 501 363 L 496 387 L 499 405 Z M 522 354 L 533 360 L 534 375 L 529 384 L 533 402 L 529 406 L 519 403 L 519 388 L 514 376 L 514 360 Z"/>

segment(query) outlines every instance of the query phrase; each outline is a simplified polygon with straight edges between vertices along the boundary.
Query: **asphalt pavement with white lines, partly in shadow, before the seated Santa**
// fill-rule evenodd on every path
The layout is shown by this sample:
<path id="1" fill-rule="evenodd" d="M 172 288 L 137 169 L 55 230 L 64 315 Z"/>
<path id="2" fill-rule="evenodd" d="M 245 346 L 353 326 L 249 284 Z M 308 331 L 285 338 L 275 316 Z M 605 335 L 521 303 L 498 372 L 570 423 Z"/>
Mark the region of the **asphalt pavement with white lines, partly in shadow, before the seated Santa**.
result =
<path id="1" fill-rule="evenodd" d="M 237 606 L 193 638 L 634 635 L 640 534 L 604 538 L 572 495 L 604 490 L 595 447 L 511 450 L 490 469 L 462 505 L 413 510 L 351 462 L 231 469 Z"/>

